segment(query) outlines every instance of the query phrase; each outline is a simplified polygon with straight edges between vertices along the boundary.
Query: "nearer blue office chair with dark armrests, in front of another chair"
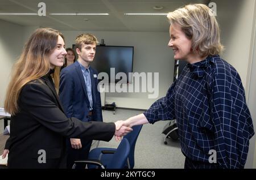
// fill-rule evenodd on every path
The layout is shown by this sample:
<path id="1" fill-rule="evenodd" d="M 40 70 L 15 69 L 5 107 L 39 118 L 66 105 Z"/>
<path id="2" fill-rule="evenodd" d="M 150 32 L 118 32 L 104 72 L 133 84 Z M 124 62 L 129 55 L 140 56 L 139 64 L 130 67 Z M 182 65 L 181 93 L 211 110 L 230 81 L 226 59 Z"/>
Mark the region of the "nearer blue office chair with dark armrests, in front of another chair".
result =
<path id="1" fill-rule="evenodd" d="M 76 165 L 81 163 L 87 164 L 88 168 L 89 165 L 92 164 L 93 166 L 91 166 L 91 168 L 100 167 L 101 169 L 123 169 L 125 168 L 125 163 L 130 153 L 130 144 L 126 138 L 123 138 L 114 153 L 109 151 L 102 151 L 101 153 L 103 155 L 111 153 L 112 157 L 109 161 L 105 161 L 104 164 L 100 160 L 93 159 L 75 161 L 72 169 L 76 169 Z"/>

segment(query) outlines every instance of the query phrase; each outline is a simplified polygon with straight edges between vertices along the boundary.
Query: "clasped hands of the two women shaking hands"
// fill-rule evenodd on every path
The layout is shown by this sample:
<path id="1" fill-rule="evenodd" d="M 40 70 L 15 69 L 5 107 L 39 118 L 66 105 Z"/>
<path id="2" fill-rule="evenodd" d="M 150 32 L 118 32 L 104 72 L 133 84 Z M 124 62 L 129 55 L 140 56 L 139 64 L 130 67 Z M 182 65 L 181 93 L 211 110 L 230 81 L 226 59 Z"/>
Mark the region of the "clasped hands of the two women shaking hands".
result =
<path id="1" fill-rule="evenodd" d="M 115 122 L 115 140 L 121 140 L 122 136 L 125 136 L 131 131 L 133 129 L 127 120 Z"/>

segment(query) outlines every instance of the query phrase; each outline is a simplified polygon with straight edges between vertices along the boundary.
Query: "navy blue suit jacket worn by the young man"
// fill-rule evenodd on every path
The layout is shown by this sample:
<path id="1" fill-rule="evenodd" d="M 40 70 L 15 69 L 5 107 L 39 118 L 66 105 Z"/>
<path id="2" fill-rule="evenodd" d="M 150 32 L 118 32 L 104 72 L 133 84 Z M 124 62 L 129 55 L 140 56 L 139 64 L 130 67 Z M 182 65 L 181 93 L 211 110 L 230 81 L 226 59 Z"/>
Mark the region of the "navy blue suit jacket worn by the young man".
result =
<path id="1" fill-rule="evenodd" d="M 90 78 L 92 81 L 93 116 L 92 121 L 102 121 L 101 97 L 98 92 L 98 72 L 92 67 Z M 60 73 L 60 100 L 67 117 L 76 117 L 88 122 L 89 98 L 79 62 L 63 68 Z"/>

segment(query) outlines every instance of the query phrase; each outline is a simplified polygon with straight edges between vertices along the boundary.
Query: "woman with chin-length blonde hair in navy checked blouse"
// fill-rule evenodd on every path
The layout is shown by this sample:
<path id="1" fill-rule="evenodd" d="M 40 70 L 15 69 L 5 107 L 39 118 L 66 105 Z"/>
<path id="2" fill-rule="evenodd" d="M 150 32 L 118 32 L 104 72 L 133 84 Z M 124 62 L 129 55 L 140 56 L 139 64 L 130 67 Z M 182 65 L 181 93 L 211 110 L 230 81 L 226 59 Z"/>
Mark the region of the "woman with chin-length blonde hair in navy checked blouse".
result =
<path id="1" fill-rule="evenodd" d="M 187 62 L 180 77 L 134 126 L 176 119 L 185 168 L 243 168 L 254 135 L 240 76 L 221 59 L 218 23 L 208 6 L 187 5 L 167 15 L 168 44 L 174 58 Z"/>

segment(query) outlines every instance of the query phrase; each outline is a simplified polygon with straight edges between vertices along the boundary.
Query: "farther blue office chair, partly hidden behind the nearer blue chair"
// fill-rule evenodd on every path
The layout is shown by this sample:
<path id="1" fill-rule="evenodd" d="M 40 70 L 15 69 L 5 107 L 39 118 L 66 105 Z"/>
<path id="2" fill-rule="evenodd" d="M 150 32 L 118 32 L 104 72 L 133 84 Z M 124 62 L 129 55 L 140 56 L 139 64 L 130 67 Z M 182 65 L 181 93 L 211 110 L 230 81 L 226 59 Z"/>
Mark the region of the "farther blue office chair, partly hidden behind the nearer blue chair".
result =
<path id="1" fill-rule="evenodd" d="M 142 125 L 134 126 L 132 127 L 133 131 L 128 133 L 127 135 L 123 136 L 123 138 L 126 138 L 130 143 L 130 153 L 127 158 L 127 162 L 125 164 L 125 168 L 127 169 L 133 169 L 134 168 L 134 151 L 135 151 L 135 144 L 137 142 L 139 132 L 141 132 Z M 117 151 L 116 148 L 94 148 L 90 151 L 88 158 L 89 159 L 97 159 L 100 160 L 103 164 L 105 162 L 108 162 L 113 154 L 104 154 L 102 151 L 108 151 L 108 152 L 115 152 Z M 89 165 L 89 168 L 93 168 L 93 166 Z"/>

